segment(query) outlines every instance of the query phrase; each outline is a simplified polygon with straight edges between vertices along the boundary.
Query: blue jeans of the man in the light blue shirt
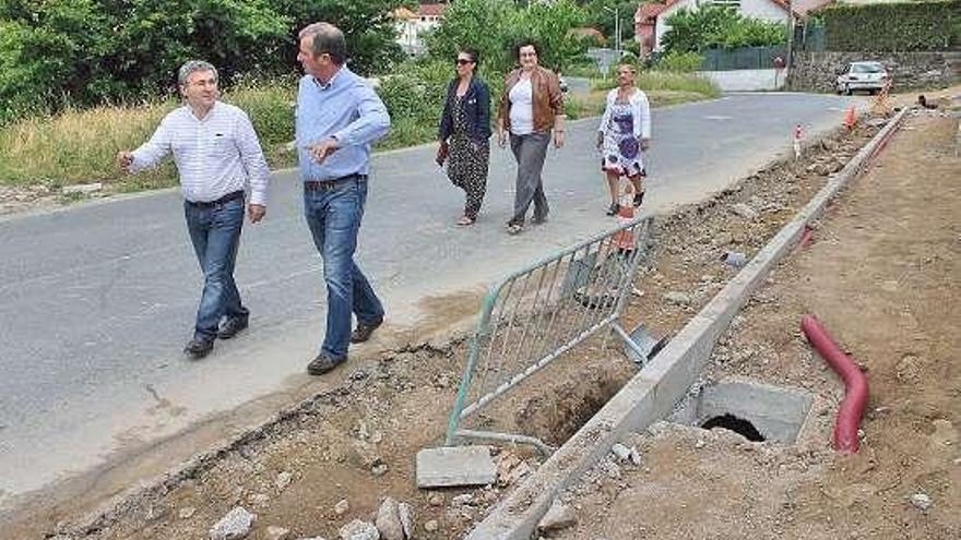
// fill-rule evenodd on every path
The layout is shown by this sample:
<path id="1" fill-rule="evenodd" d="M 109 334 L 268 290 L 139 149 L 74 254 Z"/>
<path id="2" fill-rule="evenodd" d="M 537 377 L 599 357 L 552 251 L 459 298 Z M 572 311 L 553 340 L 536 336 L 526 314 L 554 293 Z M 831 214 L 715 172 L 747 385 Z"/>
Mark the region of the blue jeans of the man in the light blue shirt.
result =
<path id="1" fill-rule="evenodd" d="M 327 281 L 327 334 L 320 350 L 333 358 L 347 356 L 352 313 L 360 324 L 383 321 L 383 305 L 354 262 L 366 201 L 367 181 L 359 178 L 323 191 L 304 191 L 304 214 L 323 259 Z"/>

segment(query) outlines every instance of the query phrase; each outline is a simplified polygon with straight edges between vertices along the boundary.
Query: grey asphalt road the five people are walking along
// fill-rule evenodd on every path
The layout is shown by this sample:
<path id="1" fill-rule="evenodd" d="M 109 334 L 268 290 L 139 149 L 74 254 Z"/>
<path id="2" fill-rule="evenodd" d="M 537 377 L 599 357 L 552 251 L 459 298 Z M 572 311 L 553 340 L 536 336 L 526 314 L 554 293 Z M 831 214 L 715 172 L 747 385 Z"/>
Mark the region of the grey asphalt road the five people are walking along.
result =
<path id="1" fill-rule="evenodd" d="M 754 94 L 654 111 L 645 211 L 723 189 L 786 153 L 796 123 L 824 131 L 849 103 Z M 493 149 L 487 201 L 470 229 L 453 226 L 462 195 L 432 164 L 432 146 L 375 158 L 359 261 L 393 335 L 442 324 L 431 299 L 476 298 L 498 276 L 615 224 L 604 216 L 595 130 L 596 120 L 573 122 L 567 146 L 549 151 L 550 220 L 518 237 L 503 230 L 509 152 Z M 236 275 L 250 331 L 199 362 L 180 352 L 201 275 L 178 192 L 0 221 L 0 509 L 218 411 L 310 383 L 304 369 L 322 337 L 324 289 L 298 187 L 295 172 L 275 173 L 266 220 L 245 226 Z"/>

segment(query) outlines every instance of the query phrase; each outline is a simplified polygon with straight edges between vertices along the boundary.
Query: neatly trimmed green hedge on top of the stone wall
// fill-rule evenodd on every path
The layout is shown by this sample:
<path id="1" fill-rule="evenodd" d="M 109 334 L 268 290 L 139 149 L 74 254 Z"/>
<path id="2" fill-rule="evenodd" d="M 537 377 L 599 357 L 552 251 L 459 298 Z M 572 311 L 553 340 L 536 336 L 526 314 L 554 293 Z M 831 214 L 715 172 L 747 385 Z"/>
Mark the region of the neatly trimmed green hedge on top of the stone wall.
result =
<path id="1" fill-rule="evenodd" d="M 839 4 L 821 10 L 819 17 L 828 50 L 946 50 L 961 43 L 961 0 Z"/>

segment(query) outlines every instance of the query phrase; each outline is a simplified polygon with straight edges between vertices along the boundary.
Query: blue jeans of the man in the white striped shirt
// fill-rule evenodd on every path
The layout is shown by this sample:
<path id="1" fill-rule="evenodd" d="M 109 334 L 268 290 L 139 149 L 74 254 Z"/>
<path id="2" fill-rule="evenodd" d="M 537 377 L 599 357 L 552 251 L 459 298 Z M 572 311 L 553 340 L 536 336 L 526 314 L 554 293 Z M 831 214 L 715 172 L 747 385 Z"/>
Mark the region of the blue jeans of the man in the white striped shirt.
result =
<path id="1" fill-rule="evenodd" d="M 248 316 L 234 283 L 234 263 L 244 225 L 244 197 L 198 206 L 183 203 L 187 230 L 203 272 L 203 295 L 197 309 L 194 337 L 214 339 L 221 319 Z"/>

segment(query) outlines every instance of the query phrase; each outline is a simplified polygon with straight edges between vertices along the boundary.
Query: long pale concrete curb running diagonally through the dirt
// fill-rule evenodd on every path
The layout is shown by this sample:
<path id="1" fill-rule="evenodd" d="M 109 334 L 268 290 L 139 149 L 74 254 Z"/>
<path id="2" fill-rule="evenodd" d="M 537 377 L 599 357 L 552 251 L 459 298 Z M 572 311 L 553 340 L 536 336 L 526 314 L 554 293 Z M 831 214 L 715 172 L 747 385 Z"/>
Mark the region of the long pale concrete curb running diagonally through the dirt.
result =
<path id="1" fill-rule="evenodd" d="M 907 109 L 865 145 L 768 244 L 574 436 L 500 502 L 467 540 L 529 540 L 557 495 L 604 457 L 614 443 L 665 418 L 699 376 L 731 321 L 847 182 L 898 130 Z"/>

